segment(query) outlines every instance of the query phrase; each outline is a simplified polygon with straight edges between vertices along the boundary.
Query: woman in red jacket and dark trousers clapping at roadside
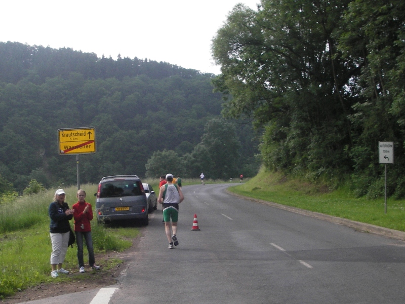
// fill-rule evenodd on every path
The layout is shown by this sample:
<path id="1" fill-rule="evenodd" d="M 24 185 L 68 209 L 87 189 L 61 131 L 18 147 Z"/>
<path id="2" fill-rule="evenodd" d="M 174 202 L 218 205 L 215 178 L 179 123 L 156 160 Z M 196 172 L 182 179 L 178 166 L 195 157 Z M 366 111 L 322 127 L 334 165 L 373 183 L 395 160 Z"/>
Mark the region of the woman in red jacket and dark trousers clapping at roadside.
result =
<path id="1" fill-rule="evenodd" d="M 86 241 L 87 251 L 89 252 L 89 264 L 93 269 L 100 269 L 95 264 L 92 226 L 90 221 L 93 219 L 92 205 L 86 203 L 86 192 L 82 189 L 77 191 L 78 202 L 72 206 L 74 218 L 74 232 L 76 233 L 77 259 L 79 262 L 79 272 L 85 272 L 85 262 L 83 260 L 83 237 Z"/>

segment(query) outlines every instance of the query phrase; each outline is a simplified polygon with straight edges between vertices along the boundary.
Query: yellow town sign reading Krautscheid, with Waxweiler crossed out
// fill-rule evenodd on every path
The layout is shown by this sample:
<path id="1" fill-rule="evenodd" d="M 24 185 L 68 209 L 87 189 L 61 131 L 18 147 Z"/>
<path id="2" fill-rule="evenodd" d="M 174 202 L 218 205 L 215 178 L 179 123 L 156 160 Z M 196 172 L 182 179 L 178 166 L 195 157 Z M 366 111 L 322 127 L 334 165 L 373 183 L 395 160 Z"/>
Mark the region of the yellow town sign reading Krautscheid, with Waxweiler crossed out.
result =
<path id="1" fill-rule="evenodd" d="M 94 127 L 59 129 L 59 154 L 87 154 L 96 152 Z"/>

